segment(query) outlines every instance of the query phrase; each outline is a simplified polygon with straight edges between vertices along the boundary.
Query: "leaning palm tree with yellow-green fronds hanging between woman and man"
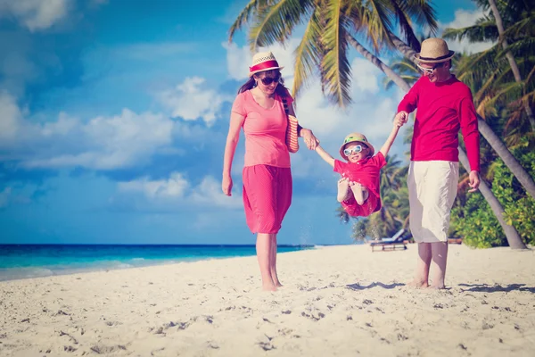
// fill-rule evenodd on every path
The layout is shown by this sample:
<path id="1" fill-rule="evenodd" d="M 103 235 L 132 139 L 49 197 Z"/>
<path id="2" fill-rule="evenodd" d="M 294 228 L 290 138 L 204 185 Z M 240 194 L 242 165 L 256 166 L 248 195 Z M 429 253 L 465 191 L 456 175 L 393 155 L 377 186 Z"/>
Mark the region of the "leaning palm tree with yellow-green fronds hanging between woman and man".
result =
<path id="1" fill-rule="evenodd" d="M 373 4 L 376 2 L 380 1 L 370 1 Z M 427 2 L 422 0 L 420 3 Z M 432 10 L 431 6 L 429 8 Z M 401 79 L 394 71 L 391 71 L 391 68 L 374 54 L 369 53 L 354 37 L 350 36 L 350 25 L 352 25 L 354 30 L 366 31 L 368 38 L 372 40 L 375 47 L 379 47 L 377 39 L 387 41 L 388 38 L 391 41 L 391 34 L 393 33 L 391 32 L 391 25 L 383 26 L 386 21 L 383 21 L 381 14 L 384 12 L 376 11 L 376 9 L 382 9 L 383 11 L 385 7 L 379 5 L 374 9 L 370 11 L 362 3 L 350 2 L 350 0 L 303 0 L 300 2 L 292 2 L 290 0 L 280 0 L 278 2 L 275 0 L 252 0 L 232 25 L 229 40 L 232 40 L 235 30 L 241 29 L 245 23 L 254 18 L 256 23 L 251 28 L 249 36 L 251 49 L 255 49 L 257 46 L 268 46 L 273 42 L 284 44 L 292 35 L 294 27 L 300 23 L 300 18 L 309 14 L 305 35 L 300 42 L 300 46 L 295 51 L 297 60 L 294 68 L 294 95 L 298 94 L 300 87 L 304 86 L 306 81 L 317 70 L 322 87 L 326 91 L 326 97 L 340 106 L 349 104 L 350 64 L 347 57 L 348 42 L 356 46 L 359 52 L 362 51 L 361 54 L 364 53 L 366 59 L 373 62 L 401 89 L 407 92 L 410 89 L 407 82 Z M 424 16 L 425 21 L 429 21 L 433 13 L 431 11 Z M 368 17 L 361 16 L 362 14 Z M 374 15 L 374 17 L 370 15 Z M 363 19 L 364 21 L 362 21 Z M 368 27 L 363 26 L 363 24 Z M 431 24 L 429 26 L 431 27 Z M 380 29 L 379 33 L 374 29 Z M 412 33 L 412 29 L 410 31 Z M 402 41 L 399 40 L 399 42 Z M 388 43 L 391 44 L 391 42 Z M 408 47 L 405 43 L 399 44 L 399 46 L 403 46 L 403 54 L 408 55 L 412 51 L 411 55 L 414 57 L 415 52 L 411 47 Z M 410 59 L 413 60 L 413 57 L 410 57 Z M 295 87 L 296 83 L 299 83 L 299 87 Z M 464 154 L 460 146 L 459 152 Z M 468 167 L 465 167 L 465 169 L 469 170 Z M 506 224 L 506 222 L 504 223 Z M 506 234 L 508 230 L 504 229 Z M 519 242 L 515 242 L 516 240 Z M 516 236 L 507 236 L 507 241 L 511 246 L 523 245 L 522 238 L 518 233 L 516 233 Z"/>

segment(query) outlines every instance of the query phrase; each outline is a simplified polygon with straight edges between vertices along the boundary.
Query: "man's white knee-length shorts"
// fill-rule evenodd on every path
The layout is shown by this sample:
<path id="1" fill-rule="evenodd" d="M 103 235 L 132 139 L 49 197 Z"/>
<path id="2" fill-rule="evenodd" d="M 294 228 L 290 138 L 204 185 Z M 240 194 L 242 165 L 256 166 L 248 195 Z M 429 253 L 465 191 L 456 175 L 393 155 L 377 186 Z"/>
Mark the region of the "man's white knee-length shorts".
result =
<path id="1" fill-rule="evenodd" d="M 416 243 L 448 241 L 449 215 L 458 181 L 458 162 L 410 162 L 410 230 Z"/>

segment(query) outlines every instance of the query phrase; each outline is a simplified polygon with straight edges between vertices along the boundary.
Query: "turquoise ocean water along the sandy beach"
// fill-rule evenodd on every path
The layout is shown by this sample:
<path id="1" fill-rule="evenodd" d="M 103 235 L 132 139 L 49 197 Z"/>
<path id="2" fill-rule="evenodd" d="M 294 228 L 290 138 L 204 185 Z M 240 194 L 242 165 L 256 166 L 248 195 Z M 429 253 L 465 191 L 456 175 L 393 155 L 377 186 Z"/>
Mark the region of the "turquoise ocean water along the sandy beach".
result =
<path id="1" fill-rule="evenodd" d="M 311 248 L 279 245 L 278 253 Z M 0 281 L 255 254 L 254 245 L 0 245 Z"/>

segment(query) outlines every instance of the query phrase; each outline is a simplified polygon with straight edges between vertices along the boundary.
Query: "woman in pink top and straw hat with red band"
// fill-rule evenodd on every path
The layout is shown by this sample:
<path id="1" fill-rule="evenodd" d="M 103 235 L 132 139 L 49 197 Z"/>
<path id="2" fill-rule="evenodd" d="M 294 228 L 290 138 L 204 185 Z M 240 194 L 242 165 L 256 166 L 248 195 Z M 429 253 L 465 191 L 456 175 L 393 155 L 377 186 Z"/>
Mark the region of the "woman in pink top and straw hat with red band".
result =
<path id="1" fill-rule="evenodd" d="M 257 234 L 256 250 L 262 288 L 276 291 L 282 286 L 276 275 L 276 235 L 292 203 L 290 154 L 285 144 L 288 113 L 295 115 L 292 96 L 273 54 L 259 53 L 252 58 L 249 80 L 240 88 L 230 114 L 223 162 L 223 193 L 231 195 L 231 168 L 240 129 L 245 134 L 243 167 L 243 206 L 251 232 Z M 310 150 L 317 138 L 309 129 L 298 128 Z"/>

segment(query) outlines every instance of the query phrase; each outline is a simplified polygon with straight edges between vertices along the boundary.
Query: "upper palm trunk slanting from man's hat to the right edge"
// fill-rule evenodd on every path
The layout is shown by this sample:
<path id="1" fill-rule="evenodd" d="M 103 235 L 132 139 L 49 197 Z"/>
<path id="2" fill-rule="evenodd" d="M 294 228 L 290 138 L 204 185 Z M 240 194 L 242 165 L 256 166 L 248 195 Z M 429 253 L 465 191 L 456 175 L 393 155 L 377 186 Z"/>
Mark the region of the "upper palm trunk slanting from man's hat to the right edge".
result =
<path id="1" fill-rule="evenodd" d="M 493 1 L 493 0 L 489 0 L 489 1 Z M 407 44 L 403 42 L 403 40 L 401 40 L 399 37 L 397 37 L 393 33 L 390 34 L 390 38 L 391 38 L 392 43 L 396 46 L 396 48 L 401 54 L 403 54 L 410 61 L 415 62 L 416 52 L 411 47 L 407 46 Z M 514 63 L 514 65 L 516 65 L 516 63 Z M 394 72 L 394 74 L 397 76 L 397 73 Z M 389 78 L 391 78 L 390 75 L 389 75 Z M 400 88 L 407 91 L 405 87 L 400 87 Z M 492 149 L 496 152 L 496 154 L 498 154 L 499 158 L 502 159 L 502 161 L 506 164 L 507 168 L 511 170 L 514 177 L 518 179 L 518 182 L 520 182 L 520 184 L 523 186 L 524 190 L 528 193 L 528 195 L 531 195 L 531 198 L 535 199 L 535 182 L 531 178 L 531 175 L 528 173 L 528 171 L 526 171 L 523 168 L 523 166 L 520 164 L 520 162 L 518 162 L 514 158 L 513 154 L 511 154 L 507 146 L 501 141 L 498 135 L 496 135 L 496 133 L 492 129 L 490 129 L 490 126 L 487 124 L 485 120 L 481 118 L 481 115 L 479 114 L 477 114 L 477 123 L 478 123 L 478 129 L 482 137 L 484 137 L 485 140 L 487 140 L 490 147 L 492 147 Z"/>

